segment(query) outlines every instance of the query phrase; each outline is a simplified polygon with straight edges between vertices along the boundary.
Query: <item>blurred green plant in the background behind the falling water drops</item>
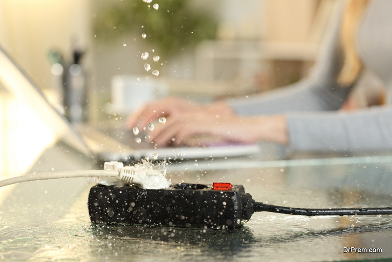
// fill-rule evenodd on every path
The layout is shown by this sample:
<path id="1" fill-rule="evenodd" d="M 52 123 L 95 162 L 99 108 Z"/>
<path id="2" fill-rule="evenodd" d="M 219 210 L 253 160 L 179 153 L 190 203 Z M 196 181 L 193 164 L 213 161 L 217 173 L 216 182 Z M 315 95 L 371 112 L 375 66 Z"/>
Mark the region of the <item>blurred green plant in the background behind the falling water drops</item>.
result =
<path id="1" fill-rule="evenodd" d="M 154 3 L 159 4 L 157 10 Z M 103 9 L 95 23 L 98 39 L 111 41 L 125 34 L 142 37 L 145 33 L 146 41 L 162 55 L 193 47 L 203 39 L 214 39 L 216 29 L 217 21 L 212 15 L 191 10 L 186 0 L 123 0 Z"/>

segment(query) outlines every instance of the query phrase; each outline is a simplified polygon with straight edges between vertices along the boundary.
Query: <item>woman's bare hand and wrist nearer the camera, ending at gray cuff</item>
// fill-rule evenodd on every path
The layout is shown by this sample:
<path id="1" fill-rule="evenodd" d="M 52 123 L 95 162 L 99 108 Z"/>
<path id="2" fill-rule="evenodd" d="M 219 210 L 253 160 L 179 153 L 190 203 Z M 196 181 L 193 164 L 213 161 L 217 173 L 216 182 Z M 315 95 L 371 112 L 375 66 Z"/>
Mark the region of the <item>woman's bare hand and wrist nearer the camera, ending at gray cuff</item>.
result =
<path id="1" fill-rule="evenodd" d="M 182 145 L 192 137 L 214 137 L 219 142 L 254 143 L 260 140 L 288 143 L 286 119 L 283 115 L 240 117 L 233 114 L 176 114 L 166 124 L 156 125 L 150 133 L 157 146 Z"/>

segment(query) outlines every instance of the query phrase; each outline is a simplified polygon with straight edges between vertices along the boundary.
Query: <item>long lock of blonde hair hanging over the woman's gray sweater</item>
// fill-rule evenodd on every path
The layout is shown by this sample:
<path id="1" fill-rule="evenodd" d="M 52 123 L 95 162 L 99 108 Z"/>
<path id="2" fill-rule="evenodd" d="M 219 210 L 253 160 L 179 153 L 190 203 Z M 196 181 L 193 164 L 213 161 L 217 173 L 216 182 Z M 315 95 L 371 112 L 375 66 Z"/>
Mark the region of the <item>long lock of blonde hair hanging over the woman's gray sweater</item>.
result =
<path id="1" fill-rule="evenodd" d="M 338 81 L 342 85 L 349 85 L 358 79 L 362 69 L 362 61 L 355 47 L 357 28 L 367 7 L 368 0 L 346 0 L 340 40 L 343 50 L 343 67 Z"/>

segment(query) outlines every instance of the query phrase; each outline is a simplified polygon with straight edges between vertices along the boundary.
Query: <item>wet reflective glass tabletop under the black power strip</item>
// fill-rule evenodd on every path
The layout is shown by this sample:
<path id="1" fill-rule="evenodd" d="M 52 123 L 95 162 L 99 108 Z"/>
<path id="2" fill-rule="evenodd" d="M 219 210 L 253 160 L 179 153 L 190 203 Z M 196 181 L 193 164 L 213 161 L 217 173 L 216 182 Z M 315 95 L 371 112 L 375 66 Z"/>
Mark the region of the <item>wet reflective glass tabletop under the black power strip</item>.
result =
<path id="1" fill-rule="evenodd" d="M 57 153 L 41 157 L 32 170 L 48 170 Z M 84 166 L 80 156 L 63 157 L 62 161 L 79 163 L 75 169 L 99 168 Z M 279 206 L 392 206 L 391 156 L 199 159 L 172 163 L 167 176 L 173 183 L 243 184 L 256 201 Z M 86 202 L 92 185 L 86 179 L 61 179 L 0 189 L 0 258 L 247 262 L 392 258 L 389 216 L 307 217 L 259 212 L 242 228 L 232 230 L 103 226 L 89 220 Z M 351 247 L 376 252 L 344 252 Z"/>

